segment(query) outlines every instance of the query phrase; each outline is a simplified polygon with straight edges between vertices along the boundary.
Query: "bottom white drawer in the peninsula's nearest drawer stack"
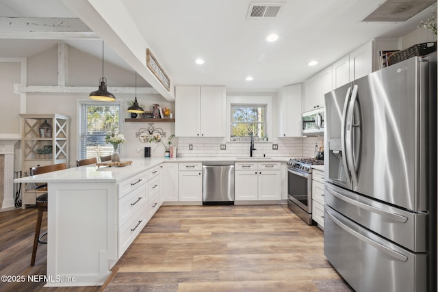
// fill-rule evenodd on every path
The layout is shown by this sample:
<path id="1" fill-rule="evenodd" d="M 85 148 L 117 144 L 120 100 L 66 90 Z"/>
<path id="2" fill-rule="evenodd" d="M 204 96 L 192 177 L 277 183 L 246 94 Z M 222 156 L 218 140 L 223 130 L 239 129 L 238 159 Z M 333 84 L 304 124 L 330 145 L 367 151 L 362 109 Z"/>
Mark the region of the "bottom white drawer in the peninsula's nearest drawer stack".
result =
<path id="1" fill-rule="evenodd" d="M 128 222 L 118 230 L 118 258 L 136 239 L 137 235 L 144 228 L 147 222 L 147 208 L 141 208 Z"/>

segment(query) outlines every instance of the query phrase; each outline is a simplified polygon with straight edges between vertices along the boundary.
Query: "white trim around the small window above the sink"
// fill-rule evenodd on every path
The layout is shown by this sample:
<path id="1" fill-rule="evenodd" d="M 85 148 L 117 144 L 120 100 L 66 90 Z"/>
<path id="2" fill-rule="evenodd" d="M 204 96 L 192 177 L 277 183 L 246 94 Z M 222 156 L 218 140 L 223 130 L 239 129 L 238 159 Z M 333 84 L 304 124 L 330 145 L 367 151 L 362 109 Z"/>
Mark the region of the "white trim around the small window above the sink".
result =
<path id="1" fill-rule="evenodd" d="M 272 139 L 272 96 L 248 96 L 235 95 L 227 96 L 227 142 L 231 143 L 247 143 L 242 141 L 231 140 L 231 106 L 232 105 L 265 105 L 266 106 L 266 137 L 268 141 Z"/>

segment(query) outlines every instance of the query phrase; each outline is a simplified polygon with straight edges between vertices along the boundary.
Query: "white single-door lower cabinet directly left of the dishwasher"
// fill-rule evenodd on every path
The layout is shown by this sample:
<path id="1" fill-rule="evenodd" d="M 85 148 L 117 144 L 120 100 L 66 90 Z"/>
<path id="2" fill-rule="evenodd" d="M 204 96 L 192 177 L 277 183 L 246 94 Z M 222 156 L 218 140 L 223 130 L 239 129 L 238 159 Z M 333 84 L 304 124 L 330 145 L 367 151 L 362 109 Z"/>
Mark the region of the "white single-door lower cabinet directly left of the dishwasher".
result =
<path id="1" fill-rule="evenodd" d="M 179 163 L 178 198 L 180 202 L 202 202 L 203 163 Z"/>

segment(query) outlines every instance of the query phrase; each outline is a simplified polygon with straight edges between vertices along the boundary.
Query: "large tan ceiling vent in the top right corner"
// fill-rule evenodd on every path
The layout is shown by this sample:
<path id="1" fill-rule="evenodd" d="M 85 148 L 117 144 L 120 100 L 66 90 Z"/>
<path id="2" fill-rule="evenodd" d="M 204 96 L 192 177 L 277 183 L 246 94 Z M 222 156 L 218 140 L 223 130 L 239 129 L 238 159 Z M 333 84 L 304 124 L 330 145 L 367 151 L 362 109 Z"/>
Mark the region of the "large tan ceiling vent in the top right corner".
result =
<path id="1" fill-rule="evenodd" d="M 407 21 L 434 3 L 437 3 L 437 0 L 387 0 L 365 17 L 363 21 Z"/>

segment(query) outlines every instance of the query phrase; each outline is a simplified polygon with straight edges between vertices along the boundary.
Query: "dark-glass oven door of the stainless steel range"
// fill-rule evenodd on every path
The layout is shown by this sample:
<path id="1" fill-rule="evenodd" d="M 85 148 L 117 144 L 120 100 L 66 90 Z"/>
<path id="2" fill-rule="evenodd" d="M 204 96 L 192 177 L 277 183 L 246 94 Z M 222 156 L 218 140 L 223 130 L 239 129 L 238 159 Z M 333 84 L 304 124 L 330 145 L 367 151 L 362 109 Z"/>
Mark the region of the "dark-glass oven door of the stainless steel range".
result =
<path id="1" fill-rule="evenodd" d="M 311 183 L 311 174 L 287 169 L 288 198 L 309 214 L 312 212 Z"/>

